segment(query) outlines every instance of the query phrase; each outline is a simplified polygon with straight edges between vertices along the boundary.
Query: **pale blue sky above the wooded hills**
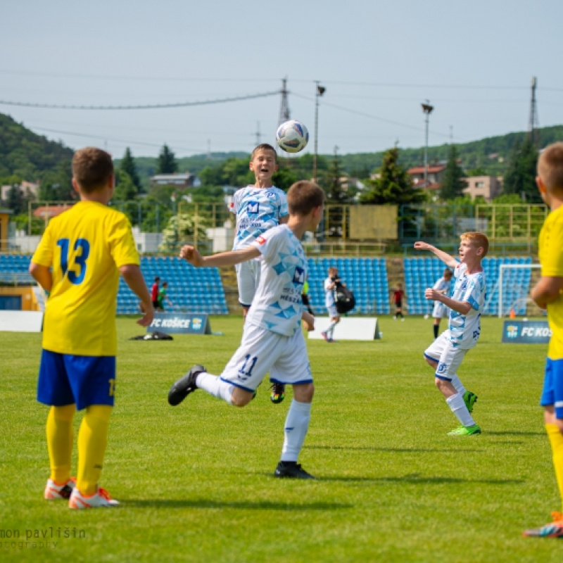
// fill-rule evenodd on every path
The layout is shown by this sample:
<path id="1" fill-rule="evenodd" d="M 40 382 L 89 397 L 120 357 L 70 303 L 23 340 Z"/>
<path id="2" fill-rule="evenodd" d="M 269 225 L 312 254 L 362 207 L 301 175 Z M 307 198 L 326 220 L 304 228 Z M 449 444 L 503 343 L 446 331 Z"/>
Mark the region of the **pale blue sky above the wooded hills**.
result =
<path id="1" fill-rule="evenodd" d="M 63 110 L 198 102 L 277 91 L 318 150 L 424 146 L 526 130 L 537 77 L 540 127 L 563 123 L 560 0 L 346 2 L 20 0 L 4 2 L 0 113 L 121 157 L 251 151 L 274 142 L 278 94 L 208 106 Z M 313 141 L 306 151 L 313 150 Z"/>

